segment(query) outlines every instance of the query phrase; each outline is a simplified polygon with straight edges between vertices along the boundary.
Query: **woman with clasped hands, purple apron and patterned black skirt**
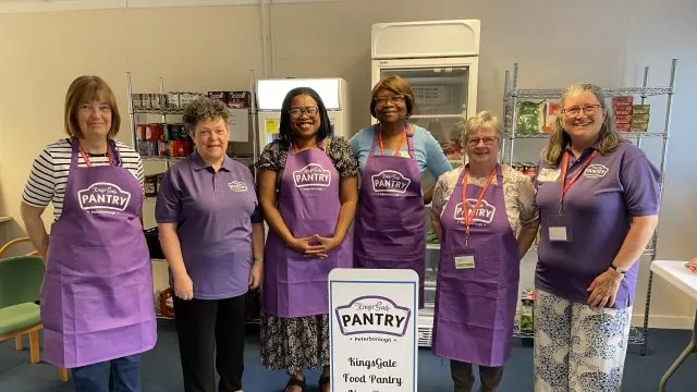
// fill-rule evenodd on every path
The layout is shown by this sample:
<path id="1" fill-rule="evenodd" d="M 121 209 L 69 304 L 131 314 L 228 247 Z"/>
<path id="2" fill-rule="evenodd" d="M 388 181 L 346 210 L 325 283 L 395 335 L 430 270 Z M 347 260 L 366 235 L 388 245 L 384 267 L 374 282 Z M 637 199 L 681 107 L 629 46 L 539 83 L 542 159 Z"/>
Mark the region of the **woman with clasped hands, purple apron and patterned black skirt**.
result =
<path id="1" fill-rule="evenodd" d="M 323 367 L 329 391 L 327 278 L 353 266 L 348 228 L 358 199 L 357 163 L 333 137 L 327 109 L 311 88 L 292 89 L 281 109 L 280 139 L 258 162 L 258 194 L 270 232 L 261 313 L 261 364 L 285 369 L 286 392 L 305 389 L 304 369 Z"/>

